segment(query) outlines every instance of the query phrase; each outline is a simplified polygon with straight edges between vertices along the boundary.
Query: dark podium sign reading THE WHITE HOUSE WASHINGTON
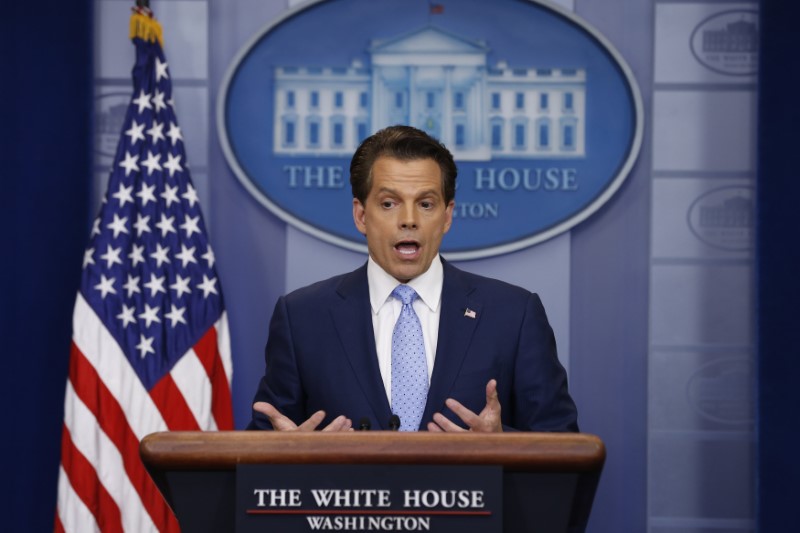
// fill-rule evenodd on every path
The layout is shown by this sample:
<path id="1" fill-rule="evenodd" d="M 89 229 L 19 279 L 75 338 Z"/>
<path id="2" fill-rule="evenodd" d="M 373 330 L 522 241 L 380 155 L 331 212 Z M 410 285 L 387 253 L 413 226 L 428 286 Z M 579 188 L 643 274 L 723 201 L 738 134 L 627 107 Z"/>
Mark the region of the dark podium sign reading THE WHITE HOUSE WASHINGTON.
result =
<path id="1" fill-rule="evenodd" d="M 239 465 L 236 533 L 500 533 L 502 468 Z"/>

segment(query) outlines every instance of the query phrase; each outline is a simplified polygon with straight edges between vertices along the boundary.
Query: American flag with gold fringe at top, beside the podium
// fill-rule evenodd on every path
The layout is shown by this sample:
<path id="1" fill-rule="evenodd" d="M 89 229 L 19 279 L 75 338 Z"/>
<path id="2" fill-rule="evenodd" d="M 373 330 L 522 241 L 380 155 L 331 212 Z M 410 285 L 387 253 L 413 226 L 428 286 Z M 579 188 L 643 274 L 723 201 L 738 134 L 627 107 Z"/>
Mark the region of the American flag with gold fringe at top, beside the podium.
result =
<path id="1" fill-rule="evenodd" d="M 214 252 L 148 9 L 131 37 L 134 92 L 75 302 L 56 531 L 178 531 L 139 441 L 233 429 Z"/>

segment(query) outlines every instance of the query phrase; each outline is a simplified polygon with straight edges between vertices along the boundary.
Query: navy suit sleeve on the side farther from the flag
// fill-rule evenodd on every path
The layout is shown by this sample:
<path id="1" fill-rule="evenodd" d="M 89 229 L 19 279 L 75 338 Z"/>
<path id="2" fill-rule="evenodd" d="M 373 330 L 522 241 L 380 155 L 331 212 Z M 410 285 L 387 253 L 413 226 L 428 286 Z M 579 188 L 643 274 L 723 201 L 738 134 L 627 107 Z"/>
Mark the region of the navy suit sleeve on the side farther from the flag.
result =
<path id="1" fill-rule="evenodd" d="M 558 360 L 542 302 L 530 294 L 514 366 L 512 426 L 525 431 L 578 431 L 578 412 Z M 502 406 L 505 408 L 505 406 Z"/>

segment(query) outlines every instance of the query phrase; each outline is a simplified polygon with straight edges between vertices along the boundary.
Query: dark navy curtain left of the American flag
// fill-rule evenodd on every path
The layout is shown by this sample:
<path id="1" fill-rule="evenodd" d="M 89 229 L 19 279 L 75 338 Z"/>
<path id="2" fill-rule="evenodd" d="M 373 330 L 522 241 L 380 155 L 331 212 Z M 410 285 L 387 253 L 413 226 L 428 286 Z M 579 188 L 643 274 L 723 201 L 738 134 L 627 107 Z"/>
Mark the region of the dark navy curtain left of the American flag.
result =
<path id="1" fill-rule="evenodd" d="M 90 229 L 92 3 L 3 9 L 0 338 L 10 468 L 1 528 L 52 531 L 72 306 Z"/>

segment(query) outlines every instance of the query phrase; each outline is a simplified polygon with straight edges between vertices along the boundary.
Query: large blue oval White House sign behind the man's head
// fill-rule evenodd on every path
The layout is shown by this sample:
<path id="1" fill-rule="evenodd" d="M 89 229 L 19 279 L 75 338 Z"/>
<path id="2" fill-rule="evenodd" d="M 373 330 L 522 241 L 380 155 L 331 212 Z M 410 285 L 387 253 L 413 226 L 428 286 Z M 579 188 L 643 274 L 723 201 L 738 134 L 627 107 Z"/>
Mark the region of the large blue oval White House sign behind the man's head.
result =
<path id="1" fill-rule="evenodd" d="M 270 211 L 366 252 L 350 158 L 410 124 L 459 168 L 450 259 L 512 252 L 569 230 L 622 185 L 642 142 L 630 68 L 573 13 L 534 1 L 328 0 L 255 35 L 223 81 L 217 124 L 238 179 Z"/>

